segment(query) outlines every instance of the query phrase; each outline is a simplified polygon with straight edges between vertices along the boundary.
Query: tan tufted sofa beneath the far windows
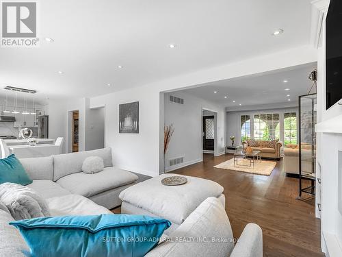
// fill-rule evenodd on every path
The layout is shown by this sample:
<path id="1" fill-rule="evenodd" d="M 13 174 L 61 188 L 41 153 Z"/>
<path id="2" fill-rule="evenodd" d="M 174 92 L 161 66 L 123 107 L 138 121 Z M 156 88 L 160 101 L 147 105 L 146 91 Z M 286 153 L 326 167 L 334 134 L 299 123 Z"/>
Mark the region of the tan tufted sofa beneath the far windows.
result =
<path id="1" fill-rule="evenodd" d="M 270 147 L 269 143 L 271 140 L 253 140 L 256 145 L 251 145 L 251 141 L 247 140 L 246 143 L 252 147 L 254 151 L 261 151 L 259 156 L 262 158 L 274 158 L 274 159 L 280 159 L 282 157 L 282 142 L 278 141 L 275 144 L 275 147 Z"/>

